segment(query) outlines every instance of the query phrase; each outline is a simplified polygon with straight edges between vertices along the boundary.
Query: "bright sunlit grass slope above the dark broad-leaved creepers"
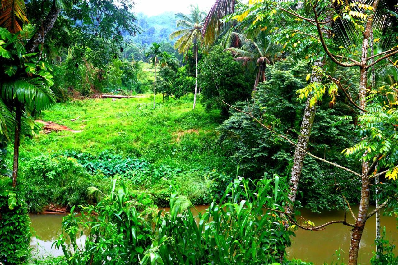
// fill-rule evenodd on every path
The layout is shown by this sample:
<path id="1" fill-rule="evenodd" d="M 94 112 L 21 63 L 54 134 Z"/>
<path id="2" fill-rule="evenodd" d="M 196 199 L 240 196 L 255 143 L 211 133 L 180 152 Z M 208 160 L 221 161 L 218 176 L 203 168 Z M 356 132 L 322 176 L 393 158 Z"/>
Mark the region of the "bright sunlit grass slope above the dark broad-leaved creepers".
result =
<path id="1" fill-rule="evenodd" d="M 219 111 L 206 111 L 200 104 L 192 110 L 191 97 L 161 103 L 162 95 L 158 95 L 157 101 L 155 109 L 153 96 L 59 103 L 44 111 L 41 119 L 82 132 L 53 132 L 26 139 L 21 145 L 21 160 L 64 150 L 91 154 L 109 150 L 183 170 L 218 169 L 226 163 L 215 142 L 215 129 L 222 119 Z"/>

